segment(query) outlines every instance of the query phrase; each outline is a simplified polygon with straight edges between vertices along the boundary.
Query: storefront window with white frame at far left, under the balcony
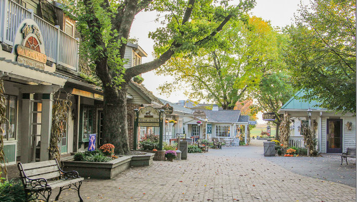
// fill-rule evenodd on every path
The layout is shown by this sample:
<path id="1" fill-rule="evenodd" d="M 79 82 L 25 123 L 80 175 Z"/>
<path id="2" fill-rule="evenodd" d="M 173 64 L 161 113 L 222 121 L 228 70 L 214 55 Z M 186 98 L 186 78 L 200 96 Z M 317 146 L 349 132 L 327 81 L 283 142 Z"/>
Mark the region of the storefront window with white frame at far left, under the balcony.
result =
<path id="1" fill-rule="evenodd" d="M 6 121 L 2 123 L 4 140 L 16 138 L 16 96 L 5 95 Z"/>

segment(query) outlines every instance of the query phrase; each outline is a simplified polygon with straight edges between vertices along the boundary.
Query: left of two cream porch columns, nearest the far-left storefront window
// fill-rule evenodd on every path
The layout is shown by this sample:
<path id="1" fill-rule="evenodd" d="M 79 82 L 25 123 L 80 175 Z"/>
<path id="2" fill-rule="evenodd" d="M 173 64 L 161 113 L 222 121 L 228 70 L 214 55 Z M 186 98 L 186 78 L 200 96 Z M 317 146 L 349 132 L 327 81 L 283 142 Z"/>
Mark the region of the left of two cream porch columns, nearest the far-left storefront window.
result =
<path id="1" fill-rule="evenodd" d="M 31 154 L 31 101 L 33 93 L 22 93 L 22 112 L 21 112 L 21 163 L 30 162 Z"/>

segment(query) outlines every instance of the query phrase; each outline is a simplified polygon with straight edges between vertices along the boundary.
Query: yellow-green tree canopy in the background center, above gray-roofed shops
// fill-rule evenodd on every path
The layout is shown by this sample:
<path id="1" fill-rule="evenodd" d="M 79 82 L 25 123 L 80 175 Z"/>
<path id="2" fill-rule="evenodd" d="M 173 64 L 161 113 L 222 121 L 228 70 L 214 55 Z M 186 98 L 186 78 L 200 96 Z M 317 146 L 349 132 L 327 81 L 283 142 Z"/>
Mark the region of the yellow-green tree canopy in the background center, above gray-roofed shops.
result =
<path id="1" fill-rule="evenodd" d="M 277 32 L 255 16 L 242 16 L 227 24 L 210 41 L 191 55 L 176 55 L 156 70 L 175 78 L 160 86 L 163 93 L 186 89 L 190 98 L 214 102 L 233 109 L 245 92 L 277 66 Z M 160 52 L 160 47 L 155 49 Z"/>

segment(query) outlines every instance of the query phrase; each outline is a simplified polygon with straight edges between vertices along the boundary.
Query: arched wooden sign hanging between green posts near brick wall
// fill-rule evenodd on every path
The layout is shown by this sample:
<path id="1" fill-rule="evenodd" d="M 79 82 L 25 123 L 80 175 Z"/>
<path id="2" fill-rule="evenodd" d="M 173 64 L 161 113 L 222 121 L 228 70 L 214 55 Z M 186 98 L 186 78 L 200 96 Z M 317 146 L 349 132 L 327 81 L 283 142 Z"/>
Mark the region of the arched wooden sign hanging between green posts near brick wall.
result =
<path id="1" fill-rule="evenodd" d="M 138 126 L 160 126 L 160 112 L 153 107 L 145 107 L 139 110 Z"/>

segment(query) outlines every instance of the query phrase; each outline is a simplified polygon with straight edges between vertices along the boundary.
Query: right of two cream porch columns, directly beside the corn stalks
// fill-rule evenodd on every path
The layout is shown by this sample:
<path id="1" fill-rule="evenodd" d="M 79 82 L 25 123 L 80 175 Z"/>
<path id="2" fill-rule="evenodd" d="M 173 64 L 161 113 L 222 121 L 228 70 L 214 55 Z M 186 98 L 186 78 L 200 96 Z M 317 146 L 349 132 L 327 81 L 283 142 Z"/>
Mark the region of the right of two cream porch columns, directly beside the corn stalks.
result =
<path id="1" fill-rule="evenodd" d="M 52 105 L 53 93 L 43 93 L 40 161 L 48 161 L 50 158 L 48 147 L 50 146 L 51 139 Z"/>

